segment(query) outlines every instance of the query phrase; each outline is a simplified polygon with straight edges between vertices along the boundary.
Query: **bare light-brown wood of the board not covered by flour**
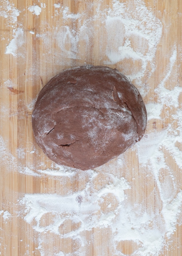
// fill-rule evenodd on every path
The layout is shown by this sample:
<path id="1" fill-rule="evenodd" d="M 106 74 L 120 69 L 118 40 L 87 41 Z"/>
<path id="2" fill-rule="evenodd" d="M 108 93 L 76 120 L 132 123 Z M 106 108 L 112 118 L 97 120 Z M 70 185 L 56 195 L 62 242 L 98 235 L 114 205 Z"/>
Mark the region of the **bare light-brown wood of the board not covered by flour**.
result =
<path id="1" fill-rule="evenodd" d="M 122 0 L 121 3 L 134 4 L 135 1 Z M 136 1 L 137 2 L 137 1 Z M 169 69 L 170 57 L 173 53 L 174 46 L 177 50 L 177 61 L 174 64 L 172 74 L 165 80 L 165 88 L 172 90 L 178 84 L 182 86 L 182 1 L 181 0 L 145 0 L 145 5 L 155 17 L 157 17 L 163 26 L 162 37 L 157 45 L 155 53 L 155 71 L 148 78 L 148 74 L 143 76 L 142 83 L 147 83 L 149 93 L 144 96 L 145 103 L 159 101 L 154 89 L 158 87 Z M 3 6 L 3 0 L 0 1 Z M 6 3 L 6 1 L 4 1 Z M 31 113 L 33 103 L 41 88 L 63 69 L 83 65 L 84 63 L 92 65 L 104 65 L 107 56 L 101 54 L 100 47 L 106 48 L 106 42 L 103 40 L 100 45 L 100 38 L 106 38 L 106 31 L 98 25 L 98 21 L 93 21 L 94 34 L 90 38 L 89 47 L 86 41 L 79 41 L 80 58 L 71 58 L 68 54 L 65 57 L 60 54 L 60 47 L 55 40 L 54 33 L 56 27 L 70 26 L 73 31 L 78 29 L 79 19 L 75 22 L 70 19 L 63 19 L 61 8 L 55 8 L 55 1 L 44 1 L 46 8 L 42 5 L 40 15 L 33 15 L 28 10 L 29 6 L 39 5 L 40 1 L 35 0 L 17 0 L 11 1 L 11 4 L 20 10 L 16 23 L 8 22 L 3 15 L 0 16 L 0 136 L 3 138 L 1 145 L 1 173 L 0 173 L 0 252 L 1 255 L 56 255 L 63 251 L 65 255 L 76 256 L 76 251 L 80 250 L 82 255 L 135 255 L 136 250 L 140 248 L 132 240 L 119 241 L 114 248 L 112 243 L 112 231 L 110 227 L 93 227 L 91 230 L 84 230 L 82 236 L 87 243 L 84 248 L 79 241 L 72 238 L 60 238 L 58 234 L 47 232 L 36 232 L 33 226 L 36 223 L 27 223 L 24 220 L 25 209 L 20 204 L 21 198 L 25 194 L 54 194 L 67 195 L 72 191 L 78 192 L 86 187 L 89 177 L 80 179 L 79 172 L 71 178 L 70 176 L 55 177 L 48 174 L 42 174 L 38 170 L 55 169 L 52 163 L 37 146 L 33 137 L 31 126 Z M 112 8 L 111 0 L 104 1 L 84 1 L 84 0 L 61 0 L 56 2 L 61 7 L 68 7 L 70 13 L 84 13 L 87 20 L 96 15 L 98 4 L 100 10 Z M 88 8 L 88 5 L 90 6 Z M 1 7 L 2 8 L 2 7 Z M 102 12 L 100 12 L 100 15 Z M 12 27 L 13 26 L 13 27 Z M 5 54 L 6 47 L 14 38 L 13 29 L 23 30 L 24 44 L 18 46 L 17 56 Z M 33 31 L 34 34 L 30 33 Z M 117 31 L 116 31 L 117 33 Z M 39 35 L 45 37 L 39 37 Z M 54 37 L 54 38 L 53 38 Z M 4 39 L 3 39 L 4 38 Z M 50 40 L 49 43 L 45 43 Z M 135 41 L 130 38 L 131 45 L 135 48 Z M 113 42 L 114 43 L 114 42 Z M 145 45 L 145 39 L 142 45 Z M 74 46 L 67 44 L 66 50 Z M 128 65 L 132 65 L 136 70 L 141 69 L 139 61 L 124 59 L 116 64 L 110 64 L 112 68 L 118 68 L 122 72 L 127 72 Z M 150 69 L 150 68 L 149 68 Z M 126 74 L 126 73 L 125 73 Z M 135 83 L 135 81 L 133 81 Z M 182 108 L 182 94 L 179 95 L 179 109 Z M 151 119 L 148 121 L 146 134 L 152 132 L 160 133 L 171 124 L 171 133 L 178 127 L 177 121 L 173 120 L 173 114 L 177 112 L 177 107 L 164 105 L 161 111 L 161 119 Z M 172 120 L 172 121 L 171 121 Z M 182 144 L 176 146 L 182 150 Z M 179 168 L 173 155 L 166 149 L 162 149 L 165 154 L 166 164 L 169 168 L 160 170 L 161 183 L 165 177 L 170 176 L 170 170 L 174 175 L 174 180 L 178 184 L 177 192 L 182 189 L 182 170 Z M 147 169 L 142 167 L 138 162 L 137 146 L 132 147 L 123 154 L 124 166 L 118 168 L 117 159 L 112 160 L 99 169 L 98 176 L 93 181 L 93 189 L 99 190 L 107 181 L 108 174 L 112 173 L 118 177 L 124 177 L 128 182 L 132 182 L 132 188 L 126 191 L 127 199 L 133 205 L 144 204 L 154 212 L 162 211 L 162 204 L 159 200 L 159 189 L 156 181 L 151 176 L 147 176 Z M 34 172 L 34 175 L 28 175 L 25 168 L 28 167 Z M 35 175 L 39 174 L 39 175 Z M 169 191 L 170 193 L 170 191 Z M 108 195 L 101 206 L 103 212 L 107 212 L 108 204 L 112 202 L 113 207 L 117 205 L 115 198 Z M 5 211 L 11 216 L 3 218 Z M 100 212 L 98 212 L 98 215 Z M 54 219 L 51 212 L 41 218 L 41 225 L 51 225 Z M 179 256 L 182 255 L 182 227 L 180 219 L 176 225 L 176 230 L 170 236 L 165 237 L 165 244 L 162 251 L 158 252 L 159 256 Z M 79 228 L 80 223 L 72 222 L 67 219 L 60 227 L 60 234 L 68 233 Z M 151 223 L 152 226 L 152 223 Z M 40 242 L 42 241 L 42 242 Z M 50 241 L 50 242 L 49 242 Z M 41 244 L 41 246 L 40 246 Z M 120 254 L 116 254 L 116 249 Z M 123 254 L 122 254 L 123 253 Z M 81 254 L 80 254 L 81 255 Z M 152 254 L 151 254 L 152 255 Z"/>

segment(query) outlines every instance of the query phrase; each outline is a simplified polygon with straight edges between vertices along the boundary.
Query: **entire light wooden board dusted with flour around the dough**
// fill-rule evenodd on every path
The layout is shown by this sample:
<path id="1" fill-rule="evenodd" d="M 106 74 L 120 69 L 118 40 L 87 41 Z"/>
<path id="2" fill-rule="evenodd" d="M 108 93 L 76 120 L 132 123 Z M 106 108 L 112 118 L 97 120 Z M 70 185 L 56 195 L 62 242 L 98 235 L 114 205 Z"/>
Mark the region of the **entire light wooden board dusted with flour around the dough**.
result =
<path id="1" fill-rule="evenodd" d="M 181 2 L 17 2 L 0 2 L 1 255 L 181 255 Z M 84 64 L 126 75 L 148 115 L 86 172 L 46 158 L 31 125 L 41 88 Z"/>

